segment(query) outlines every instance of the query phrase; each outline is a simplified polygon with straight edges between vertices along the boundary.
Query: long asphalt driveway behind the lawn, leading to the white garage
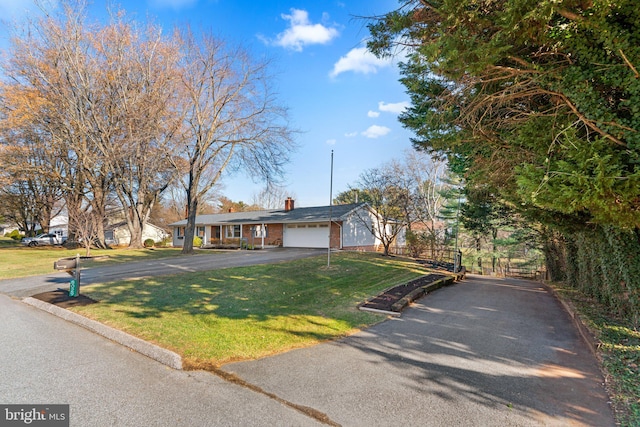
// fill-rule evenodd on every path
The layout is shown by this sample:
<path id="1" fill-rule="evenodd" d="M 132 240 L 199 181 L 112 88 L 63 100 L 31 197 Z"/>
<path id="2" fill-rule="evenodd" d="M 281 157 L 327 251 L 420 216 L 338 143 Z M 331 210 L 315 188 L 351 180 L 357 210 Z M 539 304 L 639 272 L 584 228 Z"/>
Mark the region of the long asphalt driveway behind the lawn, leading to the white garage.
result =
<path id="1" fill-rule="evenodd" d="M 323 253 L 326 253 L 326 250 L 295 248 L 261 251 L 216 251 L 194 256 L 177 256 L 151 261 L 111 264 L 82 269 L 81 284 L 90 285 L 115 280 L 212 270 L 215 268 L 270 264 Z M 51 274 L 45 276 L 0 280 L 0 293 L 23 298 L 58 288 L 69 289 L 69 279 L 70 277 L 67 273 L 52 271 Z"/>

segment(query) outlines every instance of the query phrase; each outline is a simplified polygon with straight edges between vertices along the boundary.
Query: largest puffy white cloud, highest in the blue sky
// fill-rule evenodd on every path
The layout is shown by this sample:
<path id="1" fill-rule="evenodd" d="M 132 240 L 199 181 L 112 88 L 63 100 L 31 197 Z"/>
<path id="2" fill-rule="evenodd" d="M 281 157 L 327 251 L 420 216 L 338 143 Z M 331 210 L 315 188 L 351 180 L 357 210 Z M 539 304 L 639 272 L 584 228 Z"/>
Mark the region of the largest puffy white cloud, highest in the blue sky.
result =
<path id="1" fill-rule="evenodd" d="M 300 52 L 306 45 L 327 44 L 339 35 L 335 28 L 312 24 L 306 10 L 291 9 L 291 15 L 281 16 L 289 21 L 289 28 L 278 34 L 275 41 L 277 46 Z"/>

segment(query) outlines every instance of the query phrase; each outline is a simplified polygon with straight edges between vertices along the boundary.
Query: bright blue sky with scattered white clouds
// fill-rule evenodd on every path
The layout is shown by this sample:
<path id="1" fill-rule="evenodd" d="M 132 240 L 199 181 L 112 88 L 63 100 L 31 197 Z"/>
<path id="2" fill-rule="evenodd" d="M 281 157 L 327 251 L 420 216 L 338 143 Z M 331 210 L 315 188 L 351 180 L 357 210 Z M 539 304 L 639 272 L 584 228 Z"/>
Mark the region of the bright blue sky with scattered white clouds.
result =
<path id="1" fill-rule="evenodd" d="M 48 2 L 55 5 L 55 0 Z M 91 17 L 104 16 L 106 3 L 93 1 Z M 138 21 L 151 18 L 167 31 L 188 24 L 273 59 L 273 84 L 280 103 L 289 108 L 292 126 L 302 131 L 285 177 L 296 206 L 329 203 L 332 150 L 335 196 L 364 170 L 400 158 L 411 147 L 410 133 L 397 121 L 408 105 L 397 66 L 366 52 L 366 20 L 358 18 L 389 12 L 398 6 L 397 0 L 123 0 L 111 4 Z M 28 7 L 28 0 L 0 0 L 0 16 L 20 20 L 33 15 L 33 9 L 25 12 Z M 262 187 L 240 173 L 225 179 L 222 193 L 249 203 Z"/>

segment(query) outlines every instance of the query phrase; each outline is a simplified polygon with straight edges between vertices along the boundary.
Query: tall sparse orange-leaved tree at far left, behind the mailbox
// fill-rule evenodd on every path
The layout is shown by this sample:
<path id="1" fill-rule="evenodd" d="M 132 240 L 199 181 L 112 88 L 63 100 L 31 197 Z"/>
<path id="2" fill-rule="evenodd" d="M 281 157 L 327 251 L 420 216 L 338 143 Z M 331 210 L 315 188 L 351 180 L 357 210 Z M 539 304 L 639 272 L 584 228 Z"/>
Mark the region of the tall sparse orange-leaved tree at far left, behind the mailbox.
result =
<path id="1" fill-rule="evenodd" d="M 82 1 L 62 6 L 61 16 L 45 14 L 16 34 L 3 68 L 7 86 L 17 94 L 7 99 L 6 108 L 21 112 L 25 127 L 51 141 L 49 155 L 60 162 L 58 179 L 73 230 L 75 211 L 88 194 L 94 214 L 104 212 L 110 176 L 92 144 L 94 129 L 88 122 L 94 73 L 86 34 L 94 28 L 85 25 Z"/>

